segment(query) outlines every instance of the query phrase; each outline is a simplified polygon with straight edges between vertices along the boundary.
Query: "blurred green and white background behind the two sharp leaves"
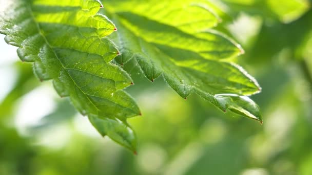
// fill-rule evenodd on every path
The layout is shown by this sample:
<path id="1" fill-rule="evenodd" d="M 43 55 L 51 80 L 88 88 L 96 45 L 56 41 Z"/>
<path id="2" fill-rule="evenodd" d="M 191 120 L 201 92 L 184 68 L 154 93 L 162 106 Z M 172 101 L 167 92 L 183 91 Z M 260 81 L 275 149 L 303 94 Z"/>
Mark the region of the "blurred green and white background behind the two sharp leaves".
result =
<path id="1" fill-rule="evenodd" d="M 236 61 L 263 88 L 252 96 L 263 125 L 133 70 L 127 91 L 143 113 L 130 120 L 134 156 L 40 83 L 1 36 L 0 174 L 312 174 L 312 2 L 209 2 L 216 30 L 241 43 Z"/>

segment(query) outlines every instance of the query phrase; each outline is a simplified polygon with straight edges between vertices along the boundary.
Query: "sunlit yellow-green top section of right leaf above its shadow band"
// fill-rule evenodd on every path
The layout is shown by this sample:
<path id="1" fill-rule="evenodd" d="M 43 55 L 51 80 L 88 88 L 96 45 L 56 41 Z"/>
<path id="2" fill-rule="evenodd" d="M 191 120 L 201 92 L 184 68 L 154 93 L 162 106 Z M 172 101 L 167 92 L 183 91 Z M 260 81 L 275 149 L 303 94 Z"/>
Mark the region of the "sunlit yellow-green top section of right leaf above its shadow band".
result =
<path id="1" fill-rule="evenodd" d="M 221 21 L 205 0 L 184 0 L 183 3 L 179 0 L 111 0 L 103 3 L 106 9 L 114 8 L 114 12 L 131 12 L 190 33 L 217 26 Z"/>

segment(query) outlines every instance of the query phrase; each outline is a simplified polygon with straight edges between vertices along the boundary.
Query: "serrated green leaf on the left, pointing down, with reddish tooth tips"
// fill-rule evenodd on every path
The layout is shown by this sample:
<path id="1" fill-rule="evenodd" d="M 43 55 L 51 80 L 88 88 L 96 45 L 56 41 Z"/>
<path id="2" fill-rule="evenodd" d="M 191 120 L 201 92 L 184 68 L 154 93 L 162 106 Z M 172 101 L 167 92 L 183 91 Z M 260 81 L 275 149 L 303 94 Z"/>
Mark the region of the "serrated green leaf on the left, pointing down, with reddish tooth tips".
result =
<path id="1" fill-rule="evenodd" d="M 60 96 L 69 96 L 103 136 L 134 151 L 135 145 L 126 143 L 134 142 L 135 135 L 124 123 L 140 110 L 123 91 L 132 84 L 130 76 L 110 63 L 119 51 L 107 38 L 115 26 L 98 13 L 102 6 L 95 0 L 1 1 L 0 33 L 7 35 L 7 43 L 19 48 L 23 61 L 34 62 L 36 76 L 53 79 Z M 94 124 L 94 118 L 112 127 L 103 130 Z M 130 140 L 120 139 L 122 127 L 128 129 L 124 139 Z"/>

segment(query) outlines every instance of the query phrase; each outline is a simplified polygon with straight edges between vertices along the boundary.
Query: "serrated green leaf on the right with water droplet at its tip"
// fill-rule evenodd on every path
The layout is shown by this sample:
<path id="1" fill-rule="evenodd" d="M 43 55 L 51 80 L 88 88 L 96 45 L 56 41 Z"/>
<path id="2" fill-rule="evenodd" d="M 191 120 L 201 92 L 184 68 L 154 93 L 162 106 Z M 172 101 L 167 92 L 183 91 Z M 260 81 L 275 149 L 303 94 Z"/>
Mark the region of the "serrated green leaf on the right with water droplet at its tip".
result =
<path id="1" fill-rule="evenodd" d="M 122 53 L 115 60 L 128 71 L 138 65 L 151 81 L 162 75 L 183 98 L 196 93 L 222 111 L 262 122 L 259 107 L 244 97 L 261 91 L 258 82 L 230 61 L 244 51 L 209 29 L 219 20 L 205 1 L 144 2 L 105 1 L 103 13 L 119 29 L 111 35 Z"/>

